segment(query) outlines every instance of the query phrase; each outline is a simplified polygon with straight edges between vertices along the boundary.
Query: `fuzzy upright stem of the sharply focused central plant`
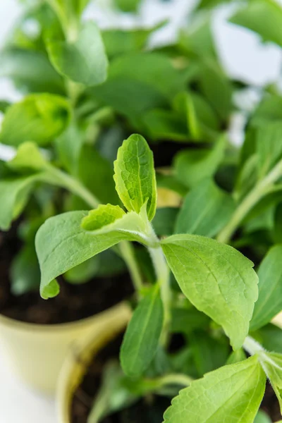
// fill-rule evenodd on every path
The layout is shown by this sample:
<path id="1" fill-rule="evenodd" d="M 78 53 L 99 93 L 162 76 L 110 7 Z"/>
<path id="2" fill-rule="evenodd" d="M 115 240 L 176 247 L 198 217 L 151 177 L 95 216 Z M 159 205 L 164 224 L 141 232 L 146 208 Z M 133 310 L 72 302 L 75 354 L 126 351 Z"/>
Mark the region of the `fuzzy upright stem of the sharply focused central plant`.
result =
<path id="1" fill-rule="evenodd" d="M 161 288 L 161 300 L 164 305 L 164 326 L 161 334 L 161 344 L 166 346 L 169 327 L 171 325 L 171 289 L 169 286 L 169 269 L 161 247 L 149 247 L 149 254 L 154 264 L 157 283 Z"/>

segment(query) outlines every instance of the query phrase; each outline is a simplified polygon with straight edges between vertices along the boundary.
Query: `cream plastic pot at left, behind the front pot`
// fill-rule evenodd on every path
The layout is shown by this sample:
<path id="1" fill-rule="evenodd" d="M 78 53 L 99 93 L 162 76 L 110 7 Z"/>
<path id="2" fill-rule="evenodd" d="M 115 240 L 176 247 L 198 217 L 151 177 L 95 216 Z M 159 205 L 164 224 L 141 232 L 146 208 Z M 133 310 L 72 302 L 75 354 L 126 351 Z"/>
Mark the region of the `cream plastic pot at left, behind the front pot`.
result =
<path id="1" fill-rule="evenodd" d="M 99 338 L 113 319 L 125 319 L 128 305 L 121 303 L 88 319 L 68 324 L 27 324 L 0 315 L 0 342 L 16 374 L 25 383 L 54 394 L 63 361 L 71 345 L 89 333 Z"/>

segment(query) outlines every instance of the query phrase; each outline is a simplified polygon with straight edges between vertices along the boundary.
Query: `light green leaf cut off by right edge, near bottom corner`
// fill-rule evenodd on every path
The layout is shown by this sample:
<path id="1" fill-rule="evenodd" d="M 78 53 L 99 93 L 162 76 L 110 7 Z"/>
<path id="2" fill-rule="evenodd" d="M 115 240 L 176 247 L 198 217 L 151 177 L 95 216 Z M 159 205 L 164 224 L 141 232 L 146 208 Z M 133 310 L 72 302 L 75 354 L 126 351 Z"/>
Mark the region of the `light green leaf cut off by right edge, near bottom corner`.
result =
<path id="1" fill-rule="evenodd" d="M 263 353 L 260 358 L 264 372 L 276 393 L 282 414 L 282 354 Z"/>

